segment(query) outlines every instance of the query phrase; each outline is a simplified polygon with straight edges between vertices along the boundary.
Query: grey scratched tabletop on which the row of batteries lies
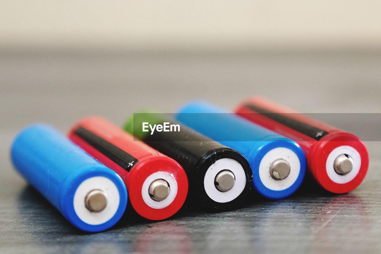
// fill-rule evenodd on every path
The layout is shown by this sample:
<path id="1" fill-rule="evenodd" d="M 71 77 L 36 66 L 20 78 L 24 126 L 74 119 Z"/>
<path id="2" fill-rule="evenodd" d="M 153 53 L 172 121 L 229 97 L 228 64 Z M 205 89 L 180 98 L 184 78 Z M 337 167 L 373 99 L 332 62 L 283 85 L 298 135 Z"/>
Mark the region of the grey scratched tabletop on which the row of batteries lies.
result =
<path id="1" fill-rule="evenodd" d="M 3 50 L 0 78 L 1 253 L 381 252 L 377 139 L 366 141 L 368 175 L 351 193 L 304 189 L 230 212 L 188 208 L 162 222 L 127 215 L 94 234 L 72 227 L 9 159 L 13 137 L 34 122 L 66 133 L 84 116 L 122 125 L 139 109 L 172 113 L 195 99 L 232 109 L 264 95 L 304 113 L 381 113 L 380 52 Z"/>

